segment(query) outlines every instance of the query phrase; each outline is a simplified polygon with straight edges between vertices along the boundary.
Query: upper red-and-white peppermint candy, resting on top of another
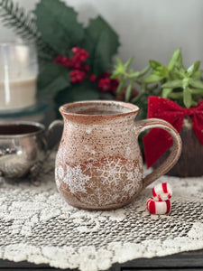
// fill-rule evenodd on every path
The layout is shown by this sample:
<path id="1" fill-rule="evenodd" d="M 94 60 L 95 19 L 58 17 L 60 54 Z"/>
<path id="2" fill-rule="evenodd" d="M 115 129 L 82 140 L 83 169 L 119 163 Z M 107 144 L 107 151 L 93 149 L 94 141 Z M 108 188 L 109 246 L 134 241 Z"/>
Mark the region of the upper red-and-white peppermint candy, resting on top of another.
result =
<path id="1" fill-rule="evenodd" d="M 166 201 L 171 199 L 171 196 L 171 185 L 167 182 L 159 183 L 152 189 L 152 197 L 154 201 Z"/>

